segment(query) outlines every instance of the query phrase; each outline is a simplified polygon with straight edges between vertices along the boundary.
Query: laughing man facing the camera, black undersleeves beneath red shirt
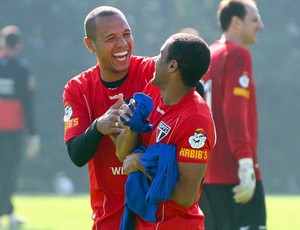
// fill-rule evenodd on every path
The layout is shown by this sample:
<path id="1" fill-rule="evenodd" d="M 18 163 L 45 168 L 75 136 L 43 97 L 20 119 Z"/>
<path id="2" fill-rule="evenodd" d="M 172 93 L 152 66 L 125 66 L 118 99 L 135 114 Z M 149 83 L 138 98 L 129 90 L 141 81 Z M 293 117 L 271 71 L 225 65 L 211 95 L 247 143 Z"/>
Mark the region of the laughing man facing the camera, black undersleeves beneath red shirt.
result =
<path id="1" fill-rule="evenodd" d="M 142 91 L 153 77 L 155 59 L 132 55 L 134 41 L 125 15 L 100 6 L 84 21 L 84 43 L 97 64 L 65 85 L 64 140 L 72 162 L 88 164 L 93 229 L 118 229 L 127 179 L 114 140 L 123 99 Z"/>

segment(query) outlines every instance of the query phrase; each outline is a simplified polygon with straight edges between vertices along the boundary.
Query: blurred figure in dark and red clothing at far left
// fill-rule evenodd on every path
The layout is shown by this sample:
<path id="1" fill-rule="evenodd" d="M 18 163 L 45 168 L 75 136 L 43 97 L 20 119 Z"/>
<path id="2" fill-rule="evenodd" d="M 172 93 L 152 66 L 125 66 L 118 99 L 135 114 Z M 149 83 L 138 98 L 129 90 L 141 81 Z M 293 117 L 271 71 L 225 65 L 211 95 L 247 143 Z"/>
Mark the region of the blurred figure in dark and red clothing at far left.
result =
<path id="1" fill-rule="evenodd" d="M 22 48 L 21 34 L 14 25 L 0 31 L 0 218 L 8 216 L 10 227 L 24 223 L 14 215 L 12 204 L 22 152 L 33 157 L 40 149 L 33 116 L 35 85 L 28 67 L 17 57 Z"/>

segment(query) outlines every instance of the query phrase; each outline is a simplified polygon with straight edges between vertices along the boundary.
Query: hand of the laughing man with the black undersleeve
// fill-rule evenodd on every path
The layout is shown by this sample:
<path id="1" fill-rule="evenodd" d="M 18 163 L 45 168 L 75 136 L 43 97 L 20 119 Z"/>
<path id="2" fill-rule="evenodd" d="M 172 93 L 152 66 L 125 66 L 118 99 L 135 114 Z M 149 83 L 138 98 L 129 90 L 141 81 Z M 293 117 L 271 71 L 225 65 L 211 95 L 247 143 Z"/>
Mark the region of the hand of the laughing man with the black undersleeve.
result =
<path id="1" fill-rule="evenodd" d="M 119 98 L 105 114 L 97 118 L 97 130 L 103 135 L 113 135 L 122 132 L 122 128 L 118 123 L 119 108 L 124 103 L 123 94 L 119 94 Z"/>

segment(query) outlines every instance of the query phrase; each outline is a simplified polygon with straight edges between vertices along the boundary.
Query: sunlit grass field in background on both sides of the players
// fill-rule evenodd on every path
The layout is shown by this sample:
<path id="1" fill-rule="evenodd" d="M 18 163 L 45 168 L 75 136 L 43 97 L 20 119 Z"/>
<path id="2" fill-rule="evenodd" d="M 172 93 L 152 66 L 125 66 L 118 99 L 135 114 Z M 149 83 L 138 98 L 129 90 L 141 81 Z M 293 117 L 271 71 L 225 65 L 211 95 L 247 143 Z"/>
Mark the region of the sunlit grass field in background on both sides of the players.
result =
<path id="1" fill-rule="evenodd" d="M 14 203 L 16 214 L 26 219 L 22 230 L 91 229 L 88 195 L 17 195 Z M 268 195 L 267 215 L 268 230 L 300 229 L 300 196 Z"/>

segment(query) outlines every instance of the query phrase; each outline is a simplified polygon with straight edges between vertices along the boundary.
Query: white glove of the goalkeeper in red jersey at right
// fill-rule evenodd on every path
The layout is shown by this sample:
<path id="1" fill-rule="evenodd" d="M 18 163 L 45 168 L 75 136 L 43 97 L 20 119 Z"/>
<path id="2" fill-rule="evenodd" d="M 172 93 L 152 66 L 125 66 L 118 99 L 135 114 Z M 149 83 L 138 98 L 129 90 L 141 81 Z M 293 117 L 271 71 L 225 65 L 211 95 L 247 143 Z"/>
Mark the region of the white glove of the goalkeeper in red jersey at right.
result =
<path id="1" fill-rule="evenodd" d="M 234 193 L 233 198 L 236 203 L 245 204 L 253 197 L 256 184 L 253 160 L 251 158 L 239 160 L 238 176 L 240 184 L 232 189 Z"/>

